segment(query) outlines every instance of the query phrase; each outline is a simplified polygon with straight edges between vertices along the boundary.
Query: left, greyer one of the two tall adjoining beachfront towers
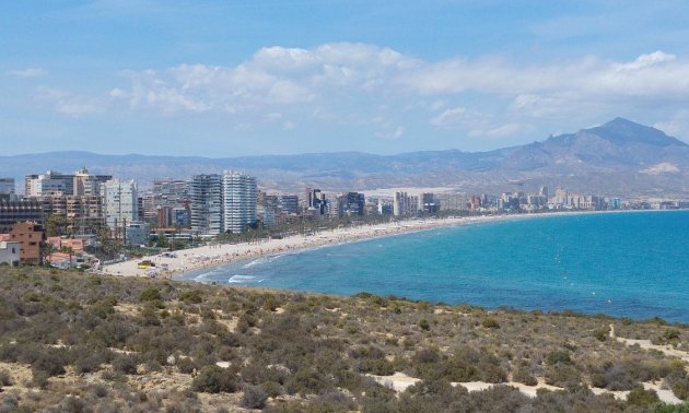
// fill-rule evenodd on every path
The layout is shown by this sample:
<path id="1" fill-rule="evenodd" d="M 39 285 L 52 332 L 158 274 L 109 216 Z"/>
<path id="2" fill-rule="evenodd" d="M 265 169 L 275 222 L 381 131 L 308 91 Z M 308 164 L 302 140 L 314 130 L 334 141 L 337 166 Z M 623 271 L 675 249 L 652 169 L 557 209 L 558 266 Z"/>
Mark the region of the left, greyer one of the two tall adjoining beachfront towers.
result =
<path id="1" fill-rule="evenodd" d="M 223 228 L 223 185 L 218 174 L 191 177 L 191 231 L 218 235 Z"/>

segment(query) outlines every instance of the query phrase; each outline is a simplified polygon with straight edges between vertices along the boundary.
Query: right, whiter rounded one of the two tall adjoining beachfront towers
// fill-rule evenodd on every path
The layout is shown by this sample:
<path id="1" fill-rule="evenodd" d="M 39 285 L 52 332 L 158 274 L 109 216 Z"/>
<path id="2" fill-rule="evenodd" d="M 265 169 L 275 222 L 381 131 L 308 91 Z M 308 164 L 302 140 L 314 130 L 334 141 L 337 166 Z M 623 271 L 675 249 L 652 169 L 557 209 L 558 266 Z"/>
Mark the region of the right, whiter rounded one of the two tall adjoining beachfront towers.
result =
<path id="1" fill-rule="evenodd" d="M 256 223 L 256 178 L 226 170 L 222 176 L 223 231 L 241 233 Z"/>

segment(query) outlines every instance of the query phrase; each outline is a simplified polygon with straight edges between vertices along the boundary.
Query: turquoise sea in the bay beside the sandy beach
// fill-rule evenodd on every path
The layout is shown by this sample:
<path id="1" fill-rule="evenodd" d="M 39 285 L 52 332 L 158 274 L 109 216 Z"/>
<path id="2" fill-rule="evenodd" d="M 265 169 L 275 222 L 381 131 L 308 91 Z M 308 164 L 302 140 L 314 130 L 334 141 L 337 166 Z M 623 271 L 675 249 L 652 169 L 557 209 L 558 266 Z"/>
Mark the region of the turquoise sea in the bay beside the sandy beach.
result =
<path id="1" fill-rule="evenodd" d="M 457 226 L 234 263 L 189 278 L 689 322 L 689 211 Z"/>

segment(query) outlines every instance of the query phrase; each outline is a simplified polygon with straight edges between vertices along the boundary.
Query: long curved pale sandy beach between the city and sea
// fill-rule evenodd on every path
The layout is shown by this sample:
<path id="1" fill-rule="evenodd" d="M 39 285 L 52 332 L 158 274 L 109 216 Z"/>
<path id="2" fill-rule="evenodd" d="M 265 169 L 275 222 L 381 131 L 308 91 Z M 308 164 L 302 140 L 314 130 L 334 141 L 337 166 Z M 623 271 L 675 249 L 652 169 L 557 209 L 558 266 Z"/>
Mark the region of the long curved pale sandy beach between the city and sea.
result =
<path id="1" fill-rule="evenodd" d="M 404 220 L 382 224 L 360 225 L 353 227 L 335 228 L 314 235 L 292 235 L 285 238 L 271 238 L 255 244 L 217 244 L 174 251 L 174 258 L 147 256 L 140 259 L 127 260 L 103 267 L 101 273 L 120 276 L 151 276 L 151 270 L 138 268 L 141 260 L 151 260 L 155 263 L 155 276 L 171 280 L 184 280 L 185 275 L 201 270 L 218 268 L 229 263 L 267 258 L 281 253 L 294 253 L 302 250 L 323 247 L 327 245 L 340 245 L 344 243 L 369 240 L 387 236 L 412 234 L 422 231 L 456 227 L 471 224 L 503 222 L 512 220 L 575 216 L 595 213 L 620 213 L 634 211 L 574 211 L 574 212 L 545 212 L 528 214 L 500 214 L 477 215 L 465 217 L 444 217 L 425 220 Z M 167 268 L 166 270 L 161 270 Z"/>

